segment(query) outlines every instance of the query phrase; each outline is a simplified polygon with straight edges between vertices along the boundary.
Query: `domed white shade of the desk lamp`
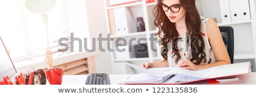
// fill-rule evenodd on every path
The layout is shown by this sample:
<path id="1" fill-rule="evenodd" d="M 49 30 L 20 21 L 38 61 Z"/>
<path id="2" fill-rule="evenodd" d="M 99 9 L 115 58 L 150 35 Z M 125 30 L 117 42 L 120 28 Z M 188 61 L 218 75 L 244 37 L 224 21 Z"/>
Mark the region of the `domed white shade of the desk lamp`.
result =
<path id="1" fill-rule="evenodd" d="M 28 11 L 43 14 L 56 5 L 56 0 L 26 0 L 25 6 Z"/>

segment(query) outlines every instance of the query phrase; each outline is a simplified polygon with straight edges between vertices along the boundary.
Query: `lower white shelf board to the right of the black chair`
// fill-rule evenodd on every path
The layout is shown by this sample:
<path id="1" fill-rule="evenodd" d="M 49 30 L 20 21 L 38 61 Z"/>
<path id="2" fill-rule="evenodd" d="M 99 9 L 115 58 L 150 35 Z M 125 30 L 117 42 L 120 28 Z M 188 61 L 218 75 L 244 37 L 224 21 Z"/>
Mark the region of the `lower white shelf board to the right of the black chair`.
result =
<path id="1" fill-rule="evenodd" d="M 254 59 L 254 53 L 234 53 L 234 59 Z"/>

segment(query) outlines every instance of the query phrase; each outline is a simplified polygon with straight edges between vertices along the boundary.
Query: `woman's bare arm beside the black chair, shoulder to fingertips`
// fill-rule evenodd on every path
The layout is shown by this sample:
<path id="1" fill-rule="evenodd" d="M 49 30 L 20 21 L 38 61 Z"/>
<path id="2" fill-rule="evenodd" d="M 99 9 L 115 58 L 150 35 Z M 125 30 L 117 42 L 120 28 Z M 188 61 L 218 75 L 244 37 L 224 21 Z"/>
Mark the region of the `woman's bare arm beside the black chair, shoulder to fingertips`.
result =
<path id="1" fill-rule="evenodd" d="M 224 64 L 230 64 L 228 51 L 226 50 L 220 29 L 218 28 L 218 25 L 215 23 L 215 21 L 212 19 L 207 21 L 206 31 L 216 62 L 210 64 L 201 64 L 197 66 L 190 62 L 190 60 L 183 60 L 179 62 L 177 66 L 186 69 L 199 70 Z"/>

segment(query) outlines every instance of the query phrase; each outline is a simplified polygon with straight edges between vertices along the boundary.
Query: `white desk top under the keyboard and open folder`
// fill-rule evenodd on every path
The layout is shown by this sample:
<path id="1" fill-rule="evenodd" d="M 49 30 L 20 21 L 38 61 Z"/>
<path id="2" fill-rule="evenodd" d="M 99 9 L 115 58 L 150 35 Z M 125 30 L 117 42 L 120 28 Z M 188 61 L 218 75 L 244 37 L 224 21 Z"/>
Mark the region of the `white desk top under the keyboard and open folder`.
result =
<path id="1" fill-rule="evenodd" d="M 121 81 L 125 81 L 126 77 L 129 75 L 109 75 L 110 84 L 116 85 Z M 63 85 L 84 85 L 87 75 L 64 75 L 63 76 Z M 251 72 L 247 75 L 240 75 L 238 81 L 230 82 L 219 82 L 219 83 L 210 83 L 210 84 L 256 84 L 256 72 Z M 189 84 L 209 84 L 207 81 L 193 82 Z"/>

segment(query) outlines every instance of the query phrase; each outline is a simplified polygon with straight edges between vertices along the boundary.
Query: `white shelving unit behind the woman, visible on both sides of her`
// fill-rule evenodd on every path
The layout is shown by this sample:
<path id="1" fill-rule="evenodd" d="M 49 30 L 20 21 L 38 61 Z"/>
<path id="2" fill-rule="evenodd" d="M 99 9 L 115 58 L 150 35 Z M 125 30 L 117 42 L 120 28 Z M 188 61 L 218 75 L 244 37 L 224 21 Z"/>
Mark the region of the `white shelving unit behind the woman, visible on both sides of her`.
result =
<path id="1" fill-rule="evenodd" d="M 147 62 L 152 62 L 154 60 L 161 59 L 159 56 L 157 56 L 156 52 L 153 52 L 150 50 L 151 46 L 155 47 L 154 45 L 151 45 L 152 43 L 148 38 L 150 38 L 155 33 L 155 25 L 154 25 L 154 16 L 152 15 L 152 9 L 156 5 L 155 2 L 152 3 L 146 3 L 146 0 L 138 1 L 135 3 L 128 3 L 125 5 L 119 5 L 119 6 L 109 6 L 109 0 L 105 0 L 105 15 L 106 15 L 106 22 L 108 24 L 108 33 L 113 33 L 112 28 L 113 24 L 109 21 L 109 11 L 114 10 L 115 8 L 121 8 L 121 7 L 127 7 L 129 9 L 129 12 L 133 16 L 133 19 L 136 20 L 138 16 L 143 17 L 144 24 L 145 24 L 145 31 L 144 32 L 133 32 L 129 34 L 120 34 L 115 35 L 112 34 L 110 37 L 114 38 L 116 40 L 117 38 L 124 38 L 125 40 L 130 40 L 131 38 L 147 38 L 146 43 L 148 47 L 148 58 L 134 58 L 134 56 L 130 56 L 130 58 L 127 59 L 115 59 L 115 52 L 112 54 L 113 64 L 121 62 L 129 62 L 134 64 L 142 64 Z M 196 6 L 200 12 L 201 16 L 205 16 L 207 18 L 217 18 L 217 24 L 219 26 L 231 26 L 234 28 L 234 59 L 235 60 L 242 60 L 242 59 L 251 59 L 255 61 L 255 26 L 256 26 L 256 10 L 255 5 L 256 2 L 254 0 L 249 0 L 250 2 L 250 14 L 251 14 L 251 20 L 247 21 L 241 21 L 241 22 L 234 22 L 234 23 L 222 23 L 221 22 L 221 15 L 220 15 L 220 6 L 218 5 L 219 1 L 212 1 L 212 0 L 196 0 Z M 136 25 L 136 24 L 134 24 Z M 156 38 L 156 36 L 154 36 Z M 158 41 L 154 41 L 158 42 Z M 112 47 L 115 47 L 115 42 L 112 41 Z M 133 46 L 137 43 L 129 43 L 129 46 Z M 134 53 L 130 53 L 131 55 L 134 55 Z M 127 69 L 127 67 L 118 66 L 118 68 Z M 253 65 L 253 68 L 255 68 L 255 64 Z M 130 70 L 130 69 L 127 69 Z M 253 71 L 256 71 L 253 69 Z M 124 71 L 125 72 L 125 71 Z M 129 73 L 129 72 L 127 72 Z"/>

